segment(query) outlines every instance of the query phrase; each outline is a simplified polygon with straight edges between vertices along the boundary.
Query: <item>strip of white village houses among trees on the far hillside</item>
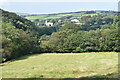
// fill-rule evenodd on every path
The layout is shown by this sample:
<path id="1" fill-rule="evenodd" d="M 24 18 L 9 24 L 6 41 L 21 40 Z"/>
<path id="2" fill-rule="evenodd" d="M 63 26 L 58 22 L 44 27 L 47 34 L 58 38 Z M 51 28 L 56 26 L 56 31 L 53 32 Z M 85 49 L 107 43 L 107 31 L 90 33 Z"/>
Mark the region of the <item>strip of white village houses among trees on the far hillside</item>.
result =
<path id="1" fill-rule="evenodd" d="M 87 16 L 89 17 L 89 16 Z M 95 17 L 95 16 L 94 16 Z M 83 17 L 84 18 L 84 17 Z M 99 24 L 112 24 L 112 20 L 110 20 L 110 18 L 106 18 L 106 19 L 102 19 L 100 20 L 100 22 L 92 22 L 92 21 L 87 21 L 86 22 L 82 22 L 81 18 L 75 18 L 75 19 L 48 19 L 48 20 L 40 20 L 40 19 L 36 19 L 35 21 L 35 25 L 36 26 L 41 26 L 41 27 L 54 27 L 55 25 L 62 25 L 64 23 L 75 23 L 78 25 L 84 25 L 84 24 L 88 24 L 89 25 L 99 25 Z"/>

